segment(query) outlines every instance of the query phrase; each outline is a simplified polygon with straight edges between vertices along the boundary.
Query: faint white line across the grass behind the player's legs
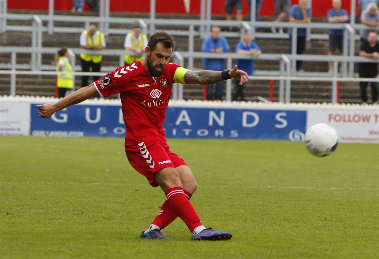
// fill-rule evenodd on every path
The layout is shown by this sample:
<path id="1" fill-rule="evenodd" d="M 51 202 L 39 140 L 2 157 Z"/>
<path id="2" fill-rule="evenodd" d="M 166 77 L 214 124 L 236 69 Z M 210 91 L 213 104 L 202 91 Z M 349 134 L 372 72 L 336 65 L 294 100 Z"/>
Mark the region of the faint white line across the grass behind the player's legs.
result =
<path id="1" fill-rule="evenodd" d="M 78 183 L 78 182 L 0 182 L 0 184 L 34 184 L 34 185 L 104 185 L 104 186 L 129 186 L 129 185 L 146 185 L 144 183 Z M 209 185 L 199 185 L 209 186 Z M 247 189 L 303 189 L 303 190 L 352 190 L 352 191 L 379 191 L 379 188 L 338 188 L 338 187 L 304 187 L 304 186 L 235 186 L 235 185 L 219 185 L 222 188 L 247 188 Z"/>

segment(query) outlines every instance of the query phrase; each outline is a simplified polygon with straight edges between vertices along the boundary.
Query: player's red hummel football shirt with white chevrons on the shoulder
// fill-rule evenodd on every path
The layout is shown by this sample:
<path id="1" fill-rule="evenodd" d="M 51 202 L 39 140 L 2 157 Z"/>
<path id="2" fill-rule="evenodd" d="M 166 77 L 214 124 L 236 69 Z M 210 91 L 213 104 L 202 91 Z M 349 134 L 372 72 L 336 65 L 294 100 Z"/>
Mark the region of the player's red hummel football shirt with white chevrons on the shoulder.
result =
<path id="1" fill-rule="evenodd" d="M 162 125 L 178 67 L 167 63 L 161 76 L 152 77 L 137 61 L 94 82 L 97 92 L 103 97 L 120 93 L 126 126 L 125 145 L 147 139 L 166 143 Z"/>

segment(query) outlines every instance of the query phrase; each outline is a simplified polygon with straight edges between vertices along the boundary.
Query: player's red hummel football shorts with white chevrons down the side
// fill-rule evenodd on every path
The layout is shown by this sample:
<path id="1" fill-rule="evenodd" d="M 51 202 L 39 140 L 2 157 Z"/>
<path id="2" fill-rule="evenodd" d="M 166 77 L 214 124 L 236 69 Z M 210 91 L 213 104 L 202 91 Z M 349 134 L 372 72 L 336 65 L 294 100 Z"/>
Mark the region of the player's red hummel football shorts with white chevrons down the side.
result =
<path id="1" fill-rule="evenodd" d="M 170 151 L 167 143 L 161 144 L 157 141 L 148 140 L 125 146 L 125 153 L 133 168 L 144 175 L 153 187 L 158 186 L 154 182 L 154 173 L 158 170 L 187 165 L 182 158 Z"/>

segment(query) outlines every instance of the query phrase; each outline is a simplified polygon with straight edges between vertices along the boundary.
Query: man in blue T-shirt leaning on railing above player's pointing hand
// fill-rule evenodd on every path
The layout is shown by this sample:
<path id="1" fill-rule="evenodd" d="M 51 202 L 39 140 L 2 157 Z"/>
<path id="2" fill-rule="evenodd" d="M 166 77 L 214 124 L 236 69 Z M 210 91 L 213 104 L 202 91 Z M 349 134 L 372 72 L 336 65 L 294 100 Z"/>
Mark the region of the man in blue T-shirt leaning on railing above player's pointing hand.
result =
<path id="1" fill-rule="evenodd" d="M 252 55 L 252 58 L 238 59 L 236 62 L 238 69 L 241 69 L 245 71 L 249 76 L 252 76 L 254 71 L 254 57 L 262 54 L 262 51 L 260 51 L 257 43 L 255 43 L 255 41 L 252 41 L 249 33 L 245 33 L 243 35 L 243 40 L 236 46 L 236 52 L 238 54 Z M 246 101 L 243 91 L 244 84 L 240 84 L 240 82 L 240 80 L 235 80 L 236 92 L 232 98 L 232 101 L 237 101 L 238 97 L 241 98 L 240 101 Z"/>

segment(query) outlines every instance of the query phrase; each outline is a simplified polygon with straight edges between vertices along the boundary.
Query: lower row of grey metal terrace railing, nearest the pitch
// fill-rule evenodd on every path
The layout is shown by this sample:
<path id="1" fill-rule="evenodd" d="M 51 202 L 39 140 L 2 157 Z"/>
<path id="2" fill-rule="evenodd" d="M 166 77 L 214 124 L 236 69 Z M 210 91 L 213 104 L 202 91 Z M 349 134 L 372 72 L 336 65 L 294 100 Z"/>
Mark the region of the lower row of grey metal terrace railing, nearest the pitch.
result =
<path id="1" fill-rule="evenodd" d="M 55 71 L 21 71 L 19 69 L 32 69 L 36 67 L 33 64 L 16 64 L 16 55 L 17 53 L 30 53 L 31 55 L 35 53 L 39 54 L 53 54 L 56 52 L 55 48 L 32 48 L 32 47 L 2 47 L 0 52 L 11 53 L 11 70 L 0 70 L 0 74 L 11 74 L 11 85 L 10 85 L 10 95 L 16 95 L 16 74 L 31 74 L 31 75 L 56 75 L 56 74 L 67 74 L 62 72 Z M 84 49 L 69 49 L 70 62 L 75 70 L 80 69 L 79 66 L 75 65 L 75 55 L 80 53 L 86 54 L 96 54 L 96 55 L 117 55 L 119 56 L 119 65 L 124 65 L 124 55 L 135 55 L 133 52 L 123 51 L 118 49 L 113 50 L 101 50 L 101 51 L 92 51 Z M 225 58 L 227 60 L 227 67 L 232 68 L 232 60 L 236 58 L 251 58 L 250 55 L 246 54 L 236 54 L 236 53 L 204 53 L 204 52 L 174 52 L 172 54 L 173 62 L 178 63 L 179 65 L 184 65 L 184 58 L 188 60 L 193 58 Z M 365 57 L 344 57 L 344 56 L 328 56 L 328 55 L 284 55 L 284 54 L 262 54 L 258 57 L 254 57 L 257 60 L 277 60 L 280 64 L 279 71 L 271 71 L 271 76 L 253 76 L 252 80 L 279 80 L 279 101 L 284 103 L 290 103 L 291 101 L 291 81 L 332 81 L 332 103 L 337 103 L 338 93 L 337 93 L 337 81 L 378 81 L 379 79 L 368 79 L 368 78 L 346 78 L 346 77 L 337 77 L 338 71 L 338 62 L 369 62 L 376 63 L 377 60 L 373 60 Z M 333 77 L 295 77 L 291 76 L 291 62 L 293 60 L 311 60 L 311 61 L 322 61 L 327 62 L 331 61 L 334 63 Z M 55 70 L 53 65 L 44 65 L 40 67 L 41 69 L 46 70 Z M 106 73 L 113 71 L 114 67 L 105 67 Z M 191 69 L 194 69 L 193 66 Z M 104 71 L 104 69 L 102 69 Z M 102 76 L 104 73 L 90 73 L 90 72 L 72 72 L 68 74 L 73 74 L 75 76 L 83 75 L 95 75 Z M 226 100 L 231 100 L 232 92 L 232 82 L 230 80 L 226 83 Z M 183 85 L 175 84 L 172 90 L 173 99 L 183 99 Z"/>

